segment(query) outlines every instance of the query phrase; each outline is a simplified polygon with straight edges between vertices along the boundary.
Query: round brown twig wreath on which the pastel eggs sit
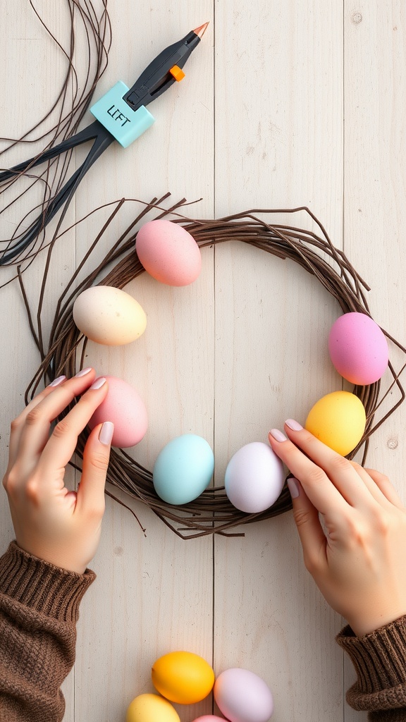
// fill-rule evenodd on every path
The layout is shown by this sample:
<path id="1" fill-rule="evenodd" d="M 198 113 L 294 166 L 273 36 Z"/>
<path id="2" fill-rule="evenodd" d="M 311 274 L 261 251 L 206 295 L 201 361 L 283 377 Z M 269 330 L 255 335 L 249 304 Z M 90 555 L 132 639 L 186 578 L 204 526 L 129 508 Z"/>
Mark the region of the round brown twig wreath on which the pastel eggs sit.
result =
<path id="1" fill-rule="evenodd" d="M 36 388 L 41 380 L 46 379 L 48 382 L 56 376 L 66 374 L 71 376 L 77 373 L 77 358 L 79 357 L 79 366 L 82 367 L 82 361 L 85 356 L 86 339 L 74 324 L 72 318 L 72 306 L 77 295 L 95 283 L 115 286 L 123 288 L 132 279 L 135 279 L 144 272 L 142 265 L 134 251 L 134 241 L 137 232 L 134 227 L 151 209 L 160 212 L 158 217 L 171 214 L 174 222 L 180 223 L 194 236 L 196 242 L 201 248 L 207 245 L 215 245 L 217 243 L 225 243 L 229 240 L 240 240 L 241 243 L 249 243 L 261 248 L 267 253 L 272 253 L 280 258 L 290 258 L 295 263 L 300 264 L 308 273 L 314 275 L 324 288 L 337 299 L 343 313 L 349 311 L 359 311 L 367 313 L 368 304 L 365 292 L 368 286 L 358 275 L 353 266 L 348 261 L 345 253 L 338 248 L 334 248 L 327 232 L 321 226 L 319 221 L 306 208 L 295 209 L 277 209 L 277 210 L 250 210 L 236 215 L 220 218 L 217 220 L 192 220 L 182 216 L 177 212 L 180 206 L 185 204 L 181 201 L 170 209 L 163 209 L 161 204 L 168 196 L 157 201 L 152 200 L 150 204 L 145 204 L 142 212 L 131 222 L 131 225 L 125 230 L 121 237 L 117 240 L 113 248 L 108 252 L 103 261 L 97 268 L 74 287 L 79 271 L 82 269 L 85 260 L 89 258 L 92 250 L 100 240 L 109 223 L 121 208 L 124 200 L 117 201 L 113 206 L 113 212 L 108 221 L 105 222 L 103 228 L 98 233 L 95 242 L 89 253 L 80 264 L 74 276 L 59 298 L 56 308 L 56 314 L 53 320 L 51 336 L 49 339 L 48 352 L 42 352 L 42 363 L 27 388 L 26 401 L 33 397 Z M 305 211 L 319 228 L 320 235 L 314 232 L 303 230 L 289 225 L 272 225 L 270 222 L 264 221 L 259 217 L 267 217 L 282 214 L 295 214 L 299 211 Z M 322 254 L 322 255 L 321 255 Z M 113 268 L 107 271 L 107 266 L 111 267 L 112 263 L 116 263 Z M 103 274 L 105 274 L 103 276 Z M 46 279 L 44 278 L 44 283 Z M 22 290 L 22 279 L 20 277 Z M 27 313 L 30 318 L 30 325 L 35 337 L 30 309 Z M 402 347 L 392 336 L 384 331 L 387 339 L 403 353 L 406 349 Z M 371 386 L 355 387 L 354 393 L 361 399 L 366 409 L 366 431 L 360 440 L 357 448 L 350 454 L 350 458 L 355 456 L 361 447 L 364 447 L 364 459 L 368 438 L 373 432 L 385 421 L 389 414 L 392 414 L 397 406 L 405 399 L 405 392 L 399 381 L 399 375 L 404 367 L 396 373 L 389 364 L 389 370 L 392 374 L 392 383 L 384 394 L 381 394 L 381 383 L 377 381 Z M 376 412 L 382 404 L 382 401 L 397 389 L 399 398 L 392 406 L 389 412 L 386 412 L 378 421 L 374 421 Z M 87 432 L 84 432 L 79 439 L 77 454 L 82 458 L 83 449 L 87 439 Z M 152 485 L 152 473 L 128 453 L 122 450 L 111 452 L 111 464 L 108 469 L 108 482 L 118 487 L 126 494 L 134 497 L 142 504 L 147 505 L 159 516 L 165 524 L 170 526 L 173 531 L 183 539 L 193 539 L 196 536 L 205 534 L 230 534 L 230 530 L 236 526 L 245 523 L 252 523 L 262 519 L 272 518 L 284 513 L 291 508 L 290 495 L 286 488 L 282 490 L 277 502 L 268 510 L 259 514 L 245 514 L 238 511 L 230 504 L 228 497 L 225 495 L 224 487 L 215 487 L 207 489 L 202 495 L 193 502 L 174 507 L 166 504 L 155 494 Z M 186 532 L 186 534 L 183 534 Z"/>

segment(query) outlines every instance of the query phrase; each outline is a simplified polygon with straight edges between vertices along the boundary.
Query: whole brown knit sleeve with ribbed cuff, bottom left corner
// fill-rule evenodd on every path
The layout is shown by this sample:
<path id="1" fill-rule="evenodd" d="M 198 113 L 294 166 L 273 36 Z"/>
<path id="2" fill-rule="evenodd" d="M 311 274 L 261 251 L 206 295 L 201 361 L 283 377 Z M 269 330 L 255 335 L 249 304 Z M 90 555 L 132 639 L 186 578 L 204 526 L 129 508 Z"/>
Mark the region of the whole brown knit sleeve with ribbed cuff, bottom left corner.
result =
<path id="1" fill-rule="evenodd" d="M 23 552 L 0 557 L 0 722 L 56 722 L 74 664 L 79 603 L 95 574 L 69 572 Z"/>

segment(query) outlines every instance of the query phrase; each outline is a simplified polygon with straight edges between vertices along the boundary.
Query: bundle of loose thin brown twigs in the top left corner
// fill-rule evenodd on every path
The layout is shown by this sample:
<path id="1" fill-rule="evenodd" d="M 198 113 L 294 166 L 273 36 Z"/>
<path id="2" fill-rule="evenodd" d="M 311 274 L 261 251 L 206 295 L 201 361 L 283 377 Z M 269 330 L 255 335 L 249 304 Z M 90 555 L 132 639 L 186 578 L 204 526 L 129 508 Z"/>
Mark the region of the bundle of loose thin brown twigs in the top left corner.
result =
<path id="1" fill-rule="evenodd" d="M 36 150 L 36 155 L 33 157 L 34 164 L 43 152 L 74 135 L 92 102 L 95 87 L 107 67 L 108 53 L 111 47 L 111 22 L 107 10 L 107 0 L 100 0 L 95 4 L 92 0 L 64 0 L 64 4 L 69 19 L 64 25 L 66 38 L 59 40 L 51 32 L 46 19 L 40 17 L 33 0 L 30 0 L 30 6 L 36 18 L 53 44 L 56 45 L 66 64 L 66 71 L 61 87 L 56 90 L 55 100 L 43 118 L 18 139 L 0 138 L 1 145 L 5 145 L 0 150 L 0 170 L 8 170 L 4 154 L 7 154 L 17 144 L 39 142 L 43 144 L 43 147 Z M 75 58 L 79 58 L 78 66 L 75 66 Z M 50 127 L 51 123 L 54 124 Z M 18 253 L 11 261 L 4 261 L 4 266 L 19 264 L 17 274 L 22 274 L 46 245 L 43 219 L 46 218 L 48 209 L 51 208 L 54 199 L 64 186 L 71 157 L 72 150 L 69 150 L 62 157 L 43 162 L 38 168 L 33 166 L 27 168 L 27 170 L 16 173 L 13 178 L 0 182 L 0 217 L 14 204 L 20 203 L 22 196 L 25 196 L 26 193 L 32 192 L 31 203 L 35 204 L 20 219 L 12 235 L 0 240 L 0 258 L 7 257 L 7 251 L 17 247 L 22 236 L 30 228 L 36 228 L 35 221 L 33 221 L 34 216 L 38 215 L 42 218 L 38 229 L 33 232 L 32 242 L 27 245 L 27 248 Z M 34 191 L 38 192 L 35 194 Z M 59 234 L 64 212 L 66 209 L 61 212 L 51 244 Z M 0 288 L 12 282 L 14 278 L 15 276 L 0 284 Z"/>

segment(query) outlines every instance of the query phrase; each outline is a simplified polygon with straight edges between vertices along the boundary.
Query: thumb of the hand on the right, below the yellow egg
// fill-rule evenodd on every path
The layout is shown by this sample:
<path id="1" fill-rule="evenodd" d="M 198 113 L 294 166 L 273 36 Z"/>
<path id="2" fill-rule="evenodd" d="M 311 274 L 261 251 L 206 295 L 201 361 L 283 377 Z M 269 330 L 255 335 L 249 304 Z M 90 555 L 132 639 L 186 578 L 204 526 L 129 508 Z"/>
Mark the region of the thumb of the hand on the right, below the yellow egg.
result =
<path id="1" fill-rule="evenodd" d="M 303 547 L 303 560 L 306 569 L 313 573 L 316 568 L 320 568 L 326 554 L 326 536 L 319 511 L 311 503 L 298 479 L 290 477 L 288 489 L 292 497 L 293 518 Z"/>

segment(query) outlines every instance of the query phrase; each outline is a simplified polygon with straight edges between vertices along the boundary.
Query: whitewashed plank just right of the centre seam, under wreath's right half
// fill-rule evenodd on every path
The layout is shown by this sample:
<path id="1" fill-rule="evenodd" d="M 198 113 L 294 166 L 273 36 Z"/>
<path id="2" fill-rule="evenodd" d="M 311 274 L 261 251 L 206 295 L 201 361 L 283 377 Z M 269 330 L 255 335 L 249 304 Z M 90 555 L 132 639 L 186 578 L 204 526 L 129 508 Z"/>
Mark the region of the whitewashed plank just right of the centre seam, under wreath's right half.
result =
<path id="1" fill-rule="evenodd" d="M 342 8 L 318 7 L 234 3 L 237 71 L 216 56 L 216 212 L 308 204 L 341 245 Z M 216 19 L 222 48 L 230 5 Z M 306 225 L 303 214 L 290 222 Z M 303 423 L 316 399 L 340 388 L 326 352 L 337 306 L 290 261 L 232 245 L 215 256 L 216 378 L 227 389 L 216 394 L 216 441 L 227 459 L 288 417 Z M 216 539 L 215 569 L 217 669 L 249 666 L 265 677 L 278 721 L 341 720 L 340 622 L 303 570 L 292 518 L 252 526 L 241 541 Z"/>

